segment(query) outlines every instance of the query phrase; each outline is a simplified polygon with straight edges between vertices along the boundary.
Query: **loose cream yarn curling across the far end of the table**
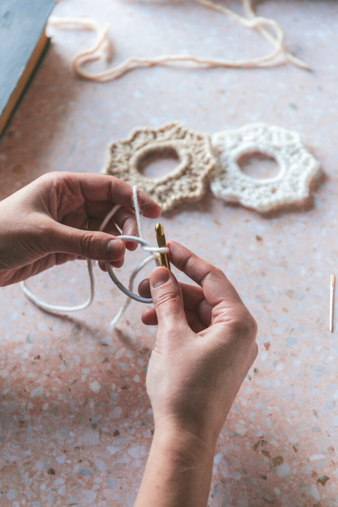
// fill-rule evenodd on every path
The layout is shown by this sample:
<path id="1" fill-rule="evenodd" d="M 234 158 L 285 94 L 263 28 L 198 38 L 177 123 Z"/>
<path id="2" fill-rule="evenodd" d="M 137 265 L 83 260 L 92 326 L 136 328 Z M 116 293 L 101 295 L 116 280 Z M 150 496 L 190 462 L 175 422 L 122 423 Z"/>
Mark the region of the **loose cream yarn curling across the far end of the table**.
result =
<path id="1" fill-rule="evenodd" d="M 221 12 L 232 17 L 242 26 L 256 30 L 264 37 L 273 47 L 273 51 L 265 56 L 251 59 L 226 60 L 221 58 L 202 58 L 194 55 L 162 55 L 158 57 L 130 57 L 125 61 L 112 68 L 108 68 L 101 72 L 90 73 L 84 70 L 83 66 L 93 60 L 102 59 L 102 55 L 107 58 L 110 56 L 111 44 L 109 41 L 110 24 L 100 26 L 99 23 L 92 18 L 59 18 L 51 16 L 49 18 L 50 26 L 59 26 L 61 28 L 93 30 L 96 33 L 95 44 L 80 51 L 72 59 L 73 69 L 79 76 L 91 81 L 109 81 L 115 80 L 129 71 L 140 67 L 152 67 L 154 65 L 170 65 L 178 62 L 191 62 L 205 68 L 228 67 L 228 68 L 254 68 L 260 66 L 273 66 L 279 63 L 279 56 L 285 61 L 289 61 L 294 65 L 309 69 L 309 65 L 303 60 L 296 58 L 289 53 L 284 45 L 284 32 L 280 25 L 273 19 L 264 16 L 256 16 L 251 4 L 251 0 L 243 0 L 243 9 L 247 17 L 235 13 L 225 6 L 216 4 L 211 0 L 195 0 L 196 3 L 214 11 Z M 272 29 L 273 33 L 269 31 Z"/>

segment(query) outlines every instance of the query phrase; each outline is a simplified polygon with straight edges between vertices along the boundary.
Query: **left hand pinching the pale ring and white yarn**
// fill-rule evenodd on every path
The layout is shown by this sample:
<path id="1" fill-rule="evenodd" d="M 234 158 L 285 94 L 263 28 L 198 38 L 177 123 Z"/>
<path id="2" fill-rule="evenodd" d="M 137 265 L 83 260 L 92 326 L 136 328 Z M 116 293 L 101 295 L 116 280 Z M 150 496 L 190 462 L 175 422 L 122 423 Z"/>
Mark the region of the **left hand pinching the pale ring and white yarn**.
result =
<path id="1" fill-rule="evenodd" d="M 157 218 L 161 208 L 138 191 L 144 216 Z M 102 220 L 120 204 L 106 232 Z M 126 247 L 116 239 L 117 226 L 137 234 L 132 188 L 114 176 L 50 172 L 0 202 L 0 286 L 24 280 L 56 264 L 74 259 L 105 261 L 121 267 Z M 82 230 L 88 222 L 88 230 Z"/>

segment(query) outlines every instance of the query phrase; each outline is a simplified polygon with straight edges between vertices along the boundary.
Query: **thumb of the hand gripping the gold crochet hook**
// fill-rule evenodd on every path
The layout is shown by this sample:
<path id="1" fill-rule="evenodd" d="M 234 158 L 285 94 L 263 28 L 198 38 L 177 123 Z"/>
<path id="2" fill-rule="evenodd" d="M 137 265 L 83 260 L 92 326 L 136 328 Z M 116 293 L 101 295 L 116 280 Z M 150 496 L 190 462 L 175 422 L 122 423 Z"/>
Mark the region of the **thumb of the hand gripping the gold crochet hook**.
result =
<path id="1" fill-rule="evenodd" d="M 164 267 L 154 269 L 150 286 L 159 329 L 187 325 L 181 289 L 172 272 Z"/>

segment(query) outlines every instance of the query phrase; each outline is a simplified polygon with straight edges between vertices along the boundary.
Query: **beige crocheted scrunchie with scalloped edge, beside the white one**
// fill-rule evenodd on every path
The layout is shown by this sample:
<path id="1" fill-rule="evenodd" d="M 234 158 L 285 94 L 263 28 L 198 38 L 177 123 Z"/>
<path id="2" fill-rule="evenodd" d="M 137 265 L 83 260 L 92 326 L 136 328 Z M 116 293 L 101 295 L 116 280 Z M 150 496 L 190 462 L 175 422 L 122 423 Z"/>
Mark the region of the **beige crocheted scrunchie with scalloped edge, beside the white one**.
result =
<path id="1" fill-rule="evenodd" d="M 149 178 L 139 171 L 146 156 L 178 155 L 178 166 L 159 178 Z M 137 185 L 167 211 L 187 200 L 201 198 L 207 178 L 216 166 L 208 134 L 189 130 L 177 122 L 161 128 L 136 128 L 127 139 L 109 144 L 102 172 Z"/>

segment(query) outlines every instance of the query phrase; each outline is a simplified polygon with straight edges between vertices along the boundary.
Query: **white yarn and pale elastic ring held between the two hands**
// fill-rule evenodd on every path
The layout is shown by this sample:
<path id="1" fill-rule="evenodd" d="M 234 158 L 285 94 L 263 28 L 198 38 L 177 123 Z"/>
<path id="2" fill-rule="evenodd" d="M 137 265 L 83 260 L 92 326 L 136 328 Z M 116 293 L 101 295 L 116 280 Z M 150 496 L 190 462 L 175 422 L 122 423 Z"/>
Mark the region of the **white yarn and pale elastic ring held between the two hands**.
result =
<path id="1" fill-rule="evenodd" d="M 135 207 L 135 215 L 136 215 L 136 222 L 137 222 L 137 228 L 139 237 L 137 236 L 127 236 L 127 235 L 121 235 L 117 236 L 121 238 L 122 240 L 126 241 L 135 241 L 137 243 L 140 243 L 142 246 L 142 249 L 148 252 L 152 252 L 152 255 L 147 257 L 144 261 L 142 261 L 132 272 L 130 279 L 129 279 L 129 288 L 126 288 L 117 278 L 117 276 L 114 273 L 114 270 L 112 269 L 110 263 L 106 262 L 106 267 L 108 274 L 112 281 L 118 286 L 120 291 L 122 291 L 124 294 L 126 294 L 127 299 L 123 306 L 120 308 L 119 312 L 115 315 L 115 317 L 111 320 L 110 325 L 112 328 L 115 328 L 117 323 L 119 322 L 120 318 L 128 308 L 131 299 L 134 299 L 136 301 L 142 302 L 142 303 L 153 303 L 152 298 L 142 298 L 141 296 L 138 296 L 137 294 L 134 294 L 133 291 L 133 285 L 134 280 L 136 278 L 136 275 L 151 261 L 155 261 L 157 265 L 160 265 L 159 263 L 159 253 L 169 253 L 168 247 L 157 247 L 157 246 L 151 246 L 150 243 L 148 243 L 143 237 L 142 237 L 142 224 L 141 224 L 141 213 L 139 209 L 138 204 L 138 198 L 137 198 L 137 187 L 134 185 L 133 187 L 133 199 L 134 199 L 134 207 Z M 114 216 L 116 211 L 121 206 L 119 204 L 115 205 L 111 211 L 107 214 L 105 219 L 103 220 L 99 231 L 103 231 L 104 227 L 107 225 L 109 220 Z M 58 312 L 58 313 L 69 313 L 74 312 L 78 310 L 84 310 L 85 308 L 88 308 L 88 306 L 91 305 L 93 299 L 94 299 L 94 273 L 93 273 L 93 262 L 90 259 L 87 259 L 87 266 L 88 266 L 88 273 L 89 273 L 89 279 L 90 279 L 90 296 L 88 300 L 83 303 L 82 305 L 77 306 L 57 306 L 57 305 L 51 305 L 49 303 L 46 303 L 45 301 L 42 301 L 41 299 L 34 296 L 32 292 L 29 291 L 29 289 L 26 287 L 25 283 L 23 281 L 20 282 L 20 287 L 22 289 L 22 292 L 25 294 L 25 296 L 32 301 L 37 307 L 41 308 L 44 311 L 47 312 Z"/>

